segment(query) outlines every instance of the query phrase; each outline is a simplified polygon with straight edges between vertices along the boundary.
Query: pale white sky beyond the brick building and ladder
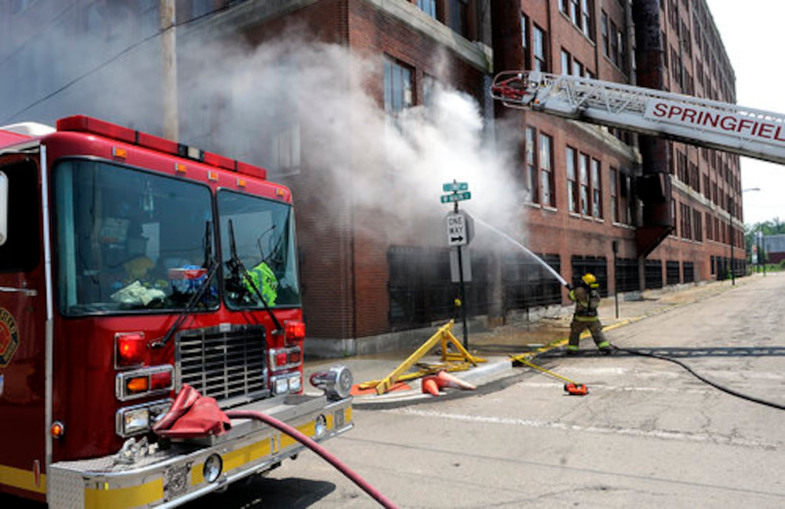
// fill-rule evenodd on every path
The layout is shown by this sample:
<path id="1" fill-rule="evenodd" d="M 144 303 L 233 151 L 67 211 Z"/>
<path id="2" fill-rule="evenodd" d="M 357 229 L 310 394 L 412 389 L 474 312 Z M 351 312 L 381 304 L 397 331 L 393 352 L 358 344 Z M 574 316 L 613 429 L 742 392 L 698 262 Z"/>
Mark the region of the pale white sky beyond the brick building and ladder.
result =
<path id="1" fill-rule="evenodd" d="M 782 49 L 785 2 L 779 0 L 707 0 L 714 24 L 736 73 L 736 102 L 785 113 L 783 71 L 776 62 Z M 785 167 L 741 159 L 744 224 L 785 221 Z"/>

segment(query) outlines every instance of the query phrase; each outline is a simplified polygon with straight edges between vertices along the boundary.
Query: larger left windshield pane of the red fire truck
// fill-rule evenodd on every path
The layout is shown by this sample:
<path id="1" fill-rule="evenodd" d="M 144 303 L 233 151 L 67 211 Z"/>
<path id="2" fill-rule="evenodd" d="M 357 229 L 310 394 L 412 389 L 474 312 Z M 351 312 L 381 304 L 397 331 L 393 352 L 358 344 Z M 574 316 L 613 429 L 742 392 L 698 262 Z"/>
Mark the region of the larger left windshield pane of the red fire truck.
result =
<path id="1" fill-rule="evenodd" d="M 206 277 L 210 188 L 92 160 L 54 170 L 57 291 L 68 315 L 183 309 Z M 193 309 L 218 306 L 211 283 Z"/>

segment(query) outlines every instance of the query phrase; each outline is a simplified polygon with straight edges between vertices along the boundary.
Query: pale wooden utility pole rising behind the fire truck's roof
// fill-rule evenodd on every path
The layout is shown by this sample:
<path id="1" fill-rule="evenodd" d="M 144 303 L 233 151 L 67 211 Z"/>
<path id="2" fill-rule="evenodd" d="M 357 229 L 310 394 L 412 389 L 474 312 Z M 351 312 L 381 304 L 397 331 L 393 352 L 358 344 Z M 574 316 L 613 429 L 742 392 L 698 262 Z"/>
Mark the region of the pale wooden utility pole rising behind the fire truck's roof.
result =
<path id="1" fill-rule="evenodd" d="M 163 75 L 163 137 L 179 139 L 177 123 L 177 31 L 175 0 L 160 0 L 161 53 Z"/>

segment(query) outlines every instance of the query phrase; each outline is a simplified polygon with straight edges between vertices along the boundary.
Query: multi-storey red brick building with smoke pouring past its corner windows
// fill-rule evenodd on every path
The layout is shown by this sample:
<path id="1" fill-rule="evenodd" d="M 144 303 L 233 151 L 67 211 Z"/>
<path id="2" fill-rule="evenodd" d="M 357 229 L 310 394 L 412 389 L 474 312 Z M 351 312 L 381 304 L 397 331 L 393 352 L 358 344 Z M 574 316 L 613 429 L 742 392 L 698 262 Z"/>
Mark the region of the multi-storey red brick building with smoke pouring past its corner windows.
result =
<path id="1" fill-rule="evenodd" d="M 0 6 L 0 68 L 20 77 L 2 89 L 0 123 L 86 113 L 162 132 L 159 2 L 73 0 L 57 12 L 41 3 Z M 733 102 L 735 78 L 705 0 L 175 6 L 179 139 L 263 164 L 293 189 L 312 352 L 385 350 L 410 335 L 422 342 L 418 328 L 455 315 L 438 186 L 461 161 L 443 153 L 414 172 L 398 163 L 444 142 L 444 133 L 411 128 L 444 126 L 428 113 L 438 111 L 440 86 L 460 93 L 442 106 L 447 126 L 455 123 L 447 141 L 483 141 L 472 150 L 482 157 L 472 161 L 466 207 L 494 218 L 502 214 L 481 200 L 501 211 L 511 197 L 506 231 L 566 278 L 590 270 L 604 295 L 724 278 L 731 239 L 743 273 L 738 157 L 509 111 L 487 94 L 494 71 L 538 68 Z M 412 123 L 412 112 L 422 118 Z M 505 165 L 485 144 L 507 138 L 515 149 Z M 462 148 L 443 152 L 473 156 Z M 509 191 L 503 199 L 494 183 Z M 491 233 L 478 229 L 471 250 L 469 315 L 498 323 L 563 302 L 537 262 Z"/>

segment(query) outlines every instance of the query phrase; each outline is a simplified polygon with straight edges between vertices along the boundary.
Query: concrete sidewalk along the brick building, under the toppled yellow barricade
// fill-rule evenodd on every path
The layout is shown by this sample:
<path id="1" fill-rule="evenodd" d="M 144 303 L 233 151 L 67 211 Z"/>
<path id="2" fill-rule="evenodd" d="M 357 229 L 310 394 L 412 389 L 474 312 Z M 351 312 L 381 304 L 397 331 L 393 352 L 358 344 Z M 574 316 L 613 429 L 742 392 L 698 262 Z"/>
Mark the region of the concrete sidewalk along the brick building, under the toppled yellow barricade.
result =
<path id="1" fill-rule="evenodd" d="M 753 276 L 736 279 L 736 285 L 746 284 Z M 618 317 L 616 314 L 616 299 L 611 296 L 603 298 L 600 305 L 600 317 L 604 330 L 623 327 L 637 320 L 651 317 L 655 314 L 666 313 L 677 306 L 710 298 L 720 292 L 732 289 L 730 280 L 710 281 L 700 284 L 681 284 L 659 290 L 647 290 L 634 294 L 619 295 Z M 520 374 L 521 368 L 513 368 L 509 356 L 533 352 L 534 355 L 550 350 L 560 350 L 567 343 L 569 324 L 572 318 L 573 306 L 554 306 L 540 313 L 538 319 L 526 320 L 525 316 L 509 318 L 509 323 L 484 331 L 473 331 L 469 325 L 468 349 L 475 357 L 482 357 L 487 362 L 472 366 L 465 371 L 454 371 L 451 375 L 472 383 L 478 390 L 489 390 L 492 383 L 504 383 L 505 379 Z M 436 333 L 434 327 L 430 333 Z M 460 324 L 455 324 L 452 334 L 463 344 L 463 333 Z M 424 335 L 422 343 L 429 339 Z M 593 343 L 582 339 L 582 349 L 593 349 Z M 345 364 L 352 371 L 355 387 L 353 405 L 359 408 L 383 407 L 385 405 L 403 405 L 422 399 L 433 399 L 432 394 L 423 394 L 421 379 L 411 379 L 402 383 L 387 394 L 378 395 L 375 390 L 357 390 L 356 385 L 372 380 L 381 380 L 388 377 L 396 368 L 414 353 L 411 351 L 397 351 L 377 353 L 368 356 L 345 357 L 340 359 L 320 359 L 306 361 L 305 392 L 306 394 L 319 394 L 308 380 L 313 372 L 326 371 L 330 366 Z M 420 362 L 425 364 L 440 364 L 441 357 L 438 346 L 423 356 Z M 414 372 L 411 368 L 408 372 Z M 455 397 L 457 393 L 469 393 L 459 389 L 446 389 L 440 397 Z"/>

